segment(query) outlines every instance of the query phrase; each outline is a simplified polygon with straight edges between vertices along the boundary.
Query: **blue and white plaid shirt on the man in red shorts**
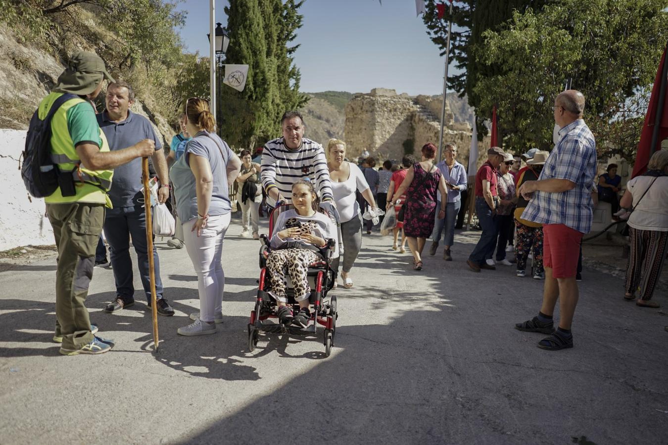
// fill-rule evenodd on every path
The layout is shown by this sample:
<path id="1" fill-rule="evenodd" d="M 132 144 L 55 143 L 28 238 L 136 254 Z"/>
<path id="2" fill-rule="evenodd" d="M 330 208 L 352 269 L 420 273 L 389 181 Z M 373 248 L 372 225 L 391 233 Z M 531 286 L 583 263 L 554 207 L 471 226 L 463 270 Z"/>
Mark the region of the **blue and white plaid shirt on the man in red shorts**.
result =
<path id="1" fill-rule="evenodd" d="M 575 187 L 560 193 L 534 191 L 522 218 L 540 224 L 564 224 L 587 234 L 593 215 L 591 185 L 597 171 L 596 141 L 582 119 L 563 127 L 559 137 L 538 180 L 568 179 Z"/>

